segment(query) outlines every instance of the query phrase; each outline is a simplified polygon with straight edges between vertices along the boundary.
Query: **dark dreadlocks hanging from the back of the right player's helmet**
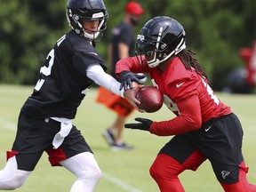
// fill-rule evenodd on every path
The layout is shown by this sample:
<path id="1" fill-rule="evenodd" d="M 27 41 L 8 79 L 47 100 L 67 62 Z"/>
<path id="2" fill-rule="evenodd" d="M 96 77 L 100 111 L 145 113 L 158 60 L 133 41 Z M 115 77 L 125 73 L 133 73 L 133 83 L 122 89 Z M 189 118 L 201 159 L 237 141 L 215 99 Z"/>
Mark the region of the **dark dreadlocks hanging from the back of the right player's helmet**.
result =
<path id="1" fill-rule="evenodd" d="M 209 79 L 204 71 L 204 67 L 194 58 L 194 55 L 196 55 L 196 52 L 193 52 L 191 49 L 184 49 L 177 56 L 183 62 L 185 68 L 188 70 L 195 69 L 197 74 Z"/>

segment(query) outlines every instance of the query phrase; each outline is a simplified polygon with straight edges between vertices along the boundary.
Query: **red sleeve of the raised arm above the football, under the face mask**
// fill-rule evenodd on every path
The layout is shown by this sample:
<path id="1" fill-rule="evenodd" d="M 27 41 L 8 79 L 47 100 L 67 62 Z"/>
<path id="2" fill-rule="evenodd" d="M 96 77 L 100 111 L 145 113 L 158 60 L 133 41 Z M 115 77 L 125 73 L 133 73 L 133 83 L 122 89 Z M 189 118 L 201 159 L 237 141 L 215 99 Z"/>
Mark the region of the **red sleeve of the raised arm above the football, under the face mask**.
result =
<path id="1" fill-rule="evenodd" d="M 148 73 L 148 65 L 140 65 L 137 57 L 128 57 L 116 62 L 116 76 L 119 77 L 122 71 L 132 73 Z"/>

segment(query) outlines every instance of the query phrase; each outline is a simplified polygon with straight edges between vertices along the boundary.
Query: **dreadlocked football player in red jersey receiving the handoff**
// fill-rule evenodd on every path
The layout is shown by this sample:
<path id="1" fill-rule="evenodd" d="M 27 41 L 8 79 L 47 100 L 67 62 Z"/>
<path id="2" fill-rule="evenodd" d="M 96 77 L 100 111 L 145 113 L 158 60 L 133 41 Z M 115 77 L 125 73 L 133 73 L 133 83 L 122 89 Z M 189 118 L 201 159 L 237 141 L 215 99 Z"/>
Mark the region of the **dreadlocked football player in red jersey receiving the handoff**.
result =
<path id="1" fill-rule="evenodd" d="M 242 126 L 212 92 L 204 68 L 193 57 L 195 53 L 186 49 L 185 38 L 177 20 L 158 16 L 141 28 L 136 57 L 117 62 L 121 88 L 132 88 L 132 82 L 137 81 L 133 73 L 148 73 L 163 94 L 164 104 L 176 115 L 161 122 L 137 117 L 138 123 L 124 126 L 158 136 L 175 135 L 150 167 L 162 192 L 185 191 L 179 174 L 196 171 L 206 159 L 225 191 L 255 192 L 256 186 L 246 180 Z"/>

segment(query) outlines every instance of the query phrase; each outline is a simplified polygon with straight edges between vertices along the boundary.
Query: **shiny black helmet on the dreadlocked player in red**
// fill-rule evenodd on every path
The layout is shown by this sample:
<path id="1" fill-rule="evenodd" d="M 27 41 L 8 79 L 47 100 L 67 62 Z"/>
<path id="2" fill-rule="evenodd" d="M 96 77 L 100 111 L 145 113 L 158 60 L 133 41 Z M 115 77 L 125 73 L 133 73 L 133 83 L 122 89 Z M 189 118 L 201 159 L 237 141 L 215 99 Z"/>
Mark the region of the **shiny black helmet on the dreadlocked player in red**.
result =
<path id="1" fill-rule="evenodd" d="M 148 56 L 152 58 L 147 60 L 148 66 L 155 68 L 186 48 L 185 37 L 185 30 L 177 20 L 166 16 L 148 20 L 137 36 L 137 59 L 140 63 L 145 63 L 144 56 Z"/>

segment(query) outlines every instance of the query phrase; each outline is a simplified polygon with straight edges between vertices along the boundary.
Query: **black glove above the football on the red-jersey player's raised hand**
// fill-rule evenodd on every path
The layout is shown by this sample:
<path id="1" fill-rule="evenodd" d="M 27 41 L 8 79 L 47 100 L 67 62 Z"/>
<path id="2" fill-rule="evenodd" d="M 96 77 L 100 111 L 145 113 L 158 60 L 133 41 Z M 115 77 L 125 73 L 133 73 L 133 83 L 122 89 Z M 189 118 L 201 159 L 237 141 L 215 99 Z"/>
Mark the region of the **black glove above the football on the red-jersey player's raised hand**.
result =
<path id="1" fill-rule="evenodd" d="M 134 74 L 130 71 L 123 71 L 119 77 L 121 81 L 119 90 L 122 90 L 124 88 L 124 91 L 126 91 L 128 90 L 128 86 L 130 87 L 130 89 L 132 89 L 132 82 L 137 82 L 138 84 L 141 84 L 140 79 L 145 78 L 146 75 Z"/>

